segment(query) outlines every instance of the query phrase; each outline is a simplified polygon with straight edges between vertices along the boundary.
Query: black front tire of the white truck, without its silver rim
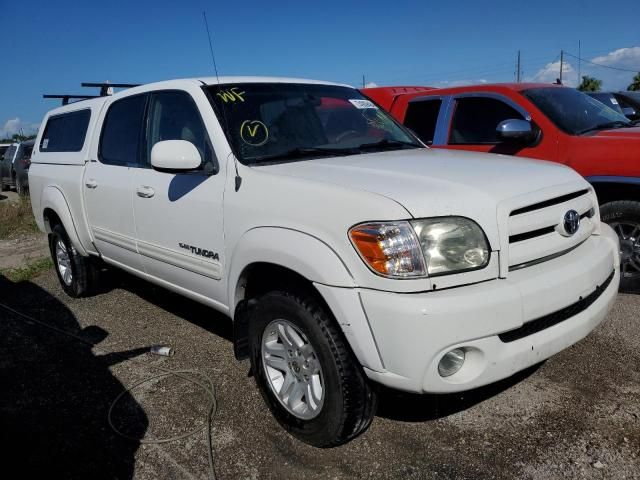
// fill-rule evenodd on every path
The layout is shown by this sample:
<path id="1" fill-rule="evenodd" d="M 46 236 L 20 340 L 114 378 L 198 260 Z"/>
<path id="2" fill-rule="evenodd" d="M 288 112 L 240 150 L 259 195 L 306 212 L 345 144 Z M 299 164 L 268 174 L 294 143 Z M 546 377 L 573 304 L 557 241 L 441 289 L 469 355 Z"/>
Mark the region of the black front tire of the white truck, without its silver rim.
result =
<path id="1" fill-rule="evenodd" d="M 284 319 L 308 339 L 322 368 L 324 402 L 309 420 L 293 415 L 281 404 L 266 378 L 262 336 L 274 320 Z M 313 295 L 286 291 L 261 297 L 249 324 L 251 367 L 256 383 L 276 420 L 289 433 L 314 447 L 333 447 L 364 432 L 375 414 L 377 395 L 336 321 Z"/>

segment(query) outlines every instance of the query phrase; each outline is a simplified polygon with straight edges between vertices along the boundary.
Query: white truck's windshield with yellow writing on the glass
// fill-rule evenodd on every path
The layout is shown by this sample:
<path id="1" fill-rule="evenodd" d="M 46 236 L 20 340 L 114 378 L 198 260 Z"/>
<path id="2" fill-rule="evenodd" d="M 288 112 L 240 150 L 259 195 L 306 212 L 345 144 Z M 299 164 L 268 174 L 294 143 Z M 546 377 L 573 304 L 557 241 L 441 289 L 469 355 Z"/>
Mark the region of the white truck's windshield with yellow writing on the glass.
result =
<path id="1" fill-rule="evenodd" d="M 423 147 L 353 88 L 240 83 L 208 90 L 227 140 L 245 164 Z"/>

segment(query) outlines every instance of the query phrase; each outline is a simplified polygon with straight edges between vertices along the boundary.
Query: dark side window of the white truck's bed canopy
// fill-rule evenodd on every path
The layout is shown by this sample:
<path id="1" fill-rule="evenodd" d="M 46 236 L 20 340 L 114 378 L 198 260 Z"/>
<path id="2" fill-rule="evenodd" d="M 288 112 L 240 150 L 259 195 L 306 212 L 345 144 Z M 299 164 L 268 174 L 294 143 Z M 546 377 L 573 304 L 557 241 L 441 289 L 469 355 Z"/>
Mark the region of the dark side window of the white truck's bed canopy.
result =
<path id="1" fill-rule="evenodd" d="M 89 109 L 49 117 L 40 140 L 40 151 L 79 152 L 84 146 L 90 118 Z"/>

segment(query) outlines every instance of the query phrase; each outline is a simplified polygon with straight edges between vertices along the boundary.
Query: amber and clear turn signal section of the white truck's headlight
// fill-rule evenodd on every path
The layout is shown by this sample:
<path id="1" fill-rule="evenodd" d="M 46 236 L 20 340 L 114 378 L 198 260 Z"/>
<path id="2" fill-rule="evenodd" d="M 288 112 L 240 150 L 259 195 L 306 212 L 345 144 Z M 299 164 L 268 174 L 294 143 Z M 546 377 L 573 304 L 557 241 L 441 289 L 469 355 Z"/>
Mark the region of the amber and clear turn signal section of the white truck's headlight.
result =
<path id="1" fill-rule="evenodd" d="M 427 274 L 420 244 L 409 222 L 365 223 L 349 230 L 365 263 L 385 277 L 415 278 Z"/>

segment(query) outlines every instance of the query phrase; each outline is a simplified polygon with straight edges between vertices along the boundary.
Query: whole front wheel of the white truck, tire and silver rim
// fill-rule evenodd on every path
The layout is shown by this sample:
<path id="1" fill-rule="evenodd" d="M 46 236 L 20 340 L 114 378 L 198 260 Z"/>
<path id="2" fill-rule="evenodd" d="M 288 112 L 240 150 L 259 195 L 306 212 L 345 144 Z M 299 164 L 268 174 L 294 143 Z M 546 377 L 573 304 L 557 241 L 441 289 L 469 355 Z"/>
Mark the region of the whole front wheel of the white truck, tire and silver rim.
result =
<path id="1" fill-rule="evenodd" d="M 249 328 L 256 383 L 287 431 L 332 447 L 366 430 L 377 397 L 335 320 L 312 295 L 264 295 Z"/>

